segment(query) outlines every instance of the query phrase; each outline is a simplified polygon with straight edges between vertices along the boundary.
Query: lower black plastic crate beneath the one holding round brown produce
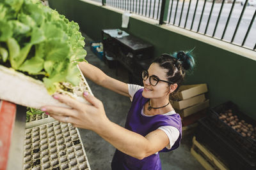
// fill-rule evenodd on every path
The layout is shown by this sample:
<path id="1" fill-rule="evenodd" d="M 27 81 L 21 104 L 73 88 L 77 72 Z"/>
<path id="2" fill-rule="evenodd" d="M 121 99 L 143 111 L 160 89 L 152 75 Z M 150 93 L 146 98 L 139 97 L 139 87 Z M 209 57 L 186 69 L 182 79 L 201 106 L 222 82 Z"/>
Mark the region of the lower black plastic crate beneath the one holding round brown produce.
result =
<path id="1" fill-rule="evenodd" d="M 196 141 L 204 145 L 214 156 L 223 162 L 229 169 L 255 170 L 256 162 L 249 160 L 240 150 L 226 140 L 219 129 L 212 126 L 208 117 L 198 121 L 195 132 Z"/>

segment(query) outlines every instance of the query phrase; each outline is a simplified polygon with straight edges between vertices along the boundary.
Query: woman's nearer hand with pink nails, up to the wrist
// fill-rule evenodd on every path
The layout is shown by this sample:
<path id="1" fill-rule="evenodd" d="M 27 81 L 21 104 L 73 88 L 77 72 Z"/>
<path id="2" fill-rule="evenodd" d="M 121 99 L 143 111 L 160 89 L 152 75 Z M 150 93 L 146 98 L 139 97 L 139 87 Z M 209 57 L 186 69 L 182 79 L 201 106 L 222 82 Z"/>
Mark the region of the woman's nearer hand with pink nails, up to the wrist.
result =
<path id="1" fill-rule="evenodd" d="M 61 94 L 54 94 L 54 99 L 67 104 L 70 108 L 43 106 L 41 110 L 48 112 L 51 117 L 60 122 L 70 123 L 74 127 L 97 131 L 104 122 L 109 121 L 106 117 L 104 106 L 99 99 L 88 94 L 88 92 L 84 92 L 83 96 L 90 104 L 81 103 L 76 99 Z"/>

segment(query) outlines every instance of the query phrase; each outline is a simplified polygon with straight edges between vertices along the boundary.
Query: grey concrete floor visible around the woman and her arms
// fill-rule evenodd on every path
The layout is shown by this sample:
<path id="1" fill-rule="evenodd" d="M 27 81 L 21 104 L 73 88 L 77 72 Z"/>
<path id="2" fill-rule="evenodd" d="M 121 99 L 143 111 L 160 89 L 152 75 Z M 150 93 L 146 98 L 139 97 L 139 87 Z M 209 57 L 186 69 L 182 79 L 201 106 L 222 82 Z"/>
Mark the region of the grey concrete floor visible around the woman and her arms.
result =
<path id="1" fill-rule="evenodd" d="M 90 41 L 93 40 L 88 38 L 86 34 L 83 34 L 83 36 L 86 38 L 85 48 L 88 53 L 86 60 L 88 60 L 90 64 L 99 67 L 109 76 L 128 83 L 127 71 L 123 67 L 118 67 L 118 76 L 116 76 L 115 69 L 109 69 L 109 67 L 90 50 Z M 104 89 L 90 80 L 87 81 L 94 96 L 100 99 L 104 104 L 106 115 L 109 120 L 124 127 L 125 118 L 131 106 L 129 98 L 116 94 L 108 89 Z M 111 160 L 113 153 L 115 152 L 115 148 L 108 142 L 104 141 L 104 139 L 100 138 L 100 136 L 95 132 L 85 129 L 79 129 L 79 132 L 83 140 L 84 149 L 91 169 L 111 169 Z M 177 150 L 168 153 L 160 153 L 163 170 L 204 169 L 204 167 L 202 167 L 190 153 L 192 137 L 193 134 L 187 134 L 182 137 L 181 145 Z"/>

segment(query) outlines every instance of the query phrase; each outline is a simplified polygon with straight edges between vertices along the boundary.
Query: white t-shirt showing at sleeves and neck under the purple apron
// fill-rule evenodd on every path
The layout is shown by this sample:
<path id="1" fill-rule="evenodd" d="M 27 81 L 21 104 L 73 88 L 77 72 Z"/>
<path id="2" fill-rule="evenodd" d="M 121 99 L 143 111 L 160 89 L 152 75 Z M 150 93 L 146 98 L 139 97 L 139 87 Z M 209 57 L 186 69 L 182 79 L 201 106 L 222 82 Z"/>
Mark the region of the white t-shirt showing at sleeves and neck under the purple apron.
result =
<path id="1" fill-rule="evenodd" d="M 134 94 L 138 90 L 143 89 L 143 88 L 144 87 L 142 87 L 140 85 L 128 84 L 128 90 L 129 90 L 129 94 L 131 96 L 131 101 L 132 101 L 132 98 L 133 98 Z M 143 106 L 143 108 L 144 108 L 144 106 Z M 144 117 L 152 117 L 152 116 L 149 116 L 149 115 L 145 115 L 143 113 L 143 108 L 141 110 L 141 115 L 143 115 Z M 173 110 L 173 111 L 169 111 L 168 113 L 164 113 L 163 115 L 167 116 L 167 115 L 173 115 L 175 113 L 176 112 Z M 174 145 L 175 141 L 177 141 L 177 139 L 179 138 L 179 135 L 180 135 L 179 130 L 176 127 L 173 127 L 173 126 L 161 126 L 158 129 L 161 129 L 162 131 L 164 131 L 164 133 L 169 138 L 169 144 L 166 146 L 166 148 L 168 148 L 168 149 L 172 148 L 172 146 Z"/>

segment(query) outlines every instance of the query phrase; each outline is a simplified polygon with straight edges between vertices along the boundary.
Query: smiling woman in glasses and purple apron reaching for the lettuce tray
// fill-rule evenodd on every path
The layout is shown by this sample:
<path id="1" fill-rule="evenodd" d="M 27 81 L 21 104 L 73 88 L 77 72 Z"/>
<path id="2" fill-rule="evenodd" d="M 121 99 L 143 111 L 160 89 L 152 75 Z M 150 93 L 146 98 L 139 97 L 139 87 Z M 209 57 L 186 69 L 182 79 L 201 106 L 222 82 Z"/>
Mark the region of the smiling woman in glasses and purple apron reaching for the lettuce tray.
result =
<path id="1" fill-rule="evenodd" d="M 185 69 L 195 62 L 190 52 L 163 54 L 143 72 L 143 85 L 115 80 L 86 62 L 79 67 L 86 78 L 118 94 L 132 99 L 125 128 L 111 122 L 102 102 L 84 92 L 90 104 L 55 94 L 54 98 L 70 108 L 44 106 L 51 117 L 89 129 L 115 146 L 112 169 L 161 169 L 159 152 L 175 150 L 180 145 L 182 127 L 178 113 L 169 103 L 169 96 L 184 80 Z"/>

